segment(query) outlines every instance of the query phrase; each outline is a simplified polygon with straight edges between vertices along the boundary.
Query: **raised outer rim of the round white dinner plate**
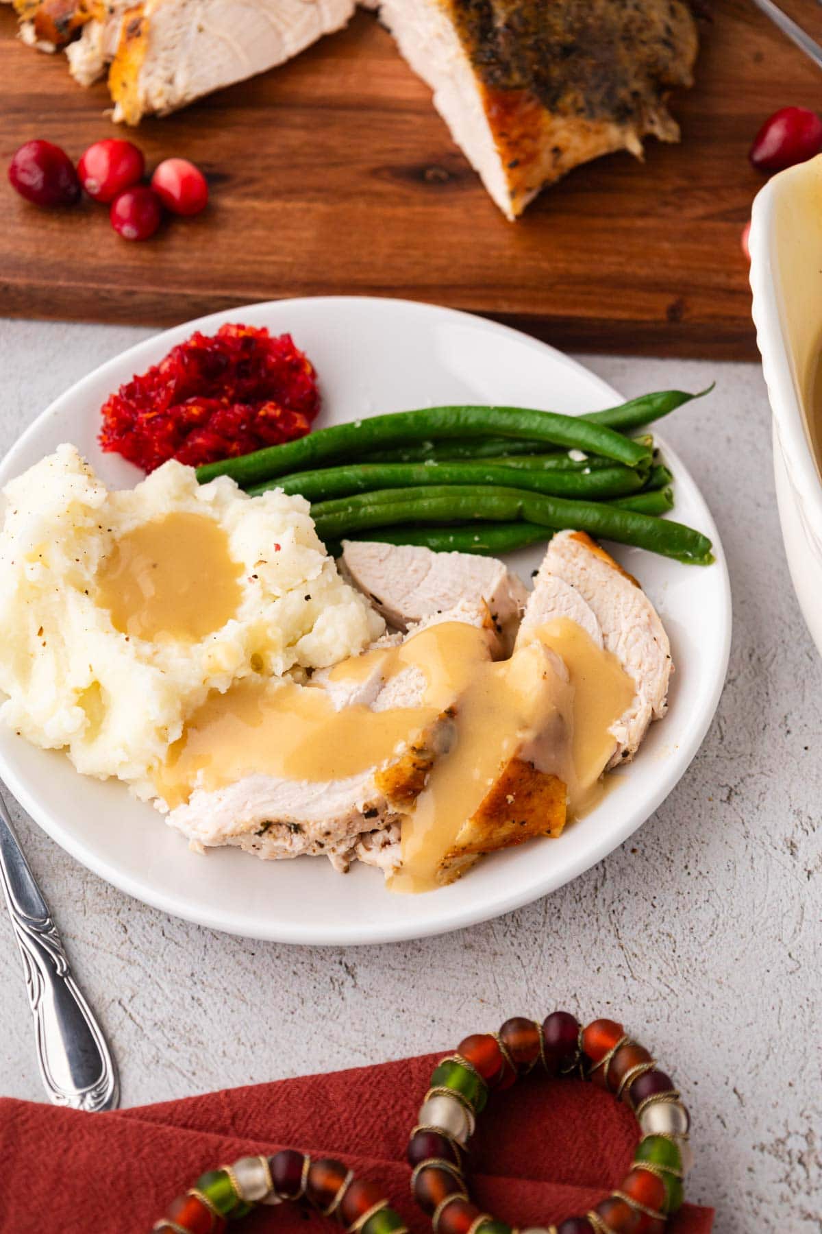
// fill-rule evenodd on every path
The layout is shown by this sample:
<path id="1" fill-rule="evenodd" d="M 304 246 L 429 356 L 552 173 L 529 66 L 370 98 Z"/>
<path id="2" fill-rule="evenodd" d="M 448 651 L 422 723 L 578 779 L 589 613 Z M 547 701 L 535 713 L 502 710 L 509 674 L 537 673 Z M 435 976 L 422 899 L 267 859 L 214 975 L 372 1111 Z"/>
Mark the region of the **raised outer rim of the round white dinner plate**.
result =
<path id="1" fill-rule="evenodd" d="M 403 308 L 410 308 L 412 311 L 420 312 L 424 316 L 429 312 L 434 312 L 435 315 L 450 317 L 458 322 L 470 323 L 473 328 L 479 327 L 493 334 L 502 333 L 504 336 L 513 337 L 520 344 L 525 343 L 532 350 L 548 353 L 556 363 L 561 363 L 571 371 L 584 375 L 588 381 L 592 381 L 600 387 L 604 397 L 612 399 L 615 402 L 619 402 L 622 399 L 622 396 L 603 378 L 592 373 L 592 370 L 585 368 L 585 365 L 579 360 L 567 355 L 552 344 L 545 343 L 534 336 L 525 334 L 503 322 L 497 322 L 493 318 L 482 317 L 463 310 L 450 308 L 429 301 L 408 300 L 397 296 L 318 295 L 255 301 L 248 305 L 217 310 L 213 313 L 207 313 L 202 317 L 196 317 L 169 327 L 168 329 L 153 333 L 149 338 L 140 339 L 139 342 L 126 348 L 126 350 L 120 352 L 117 355 L 113 355 L 111 359 L 105 360 L 102 364 L 91 369 L 90 373 L 86 373 L 60 395 L 58 395 L 57 399 L 54 399 L 42 412 L 39 412 L 38 416 L 36 416 L 32 423 L 28 424 L 20 437 L 16 438 L 9 452 L 0 460 L 0 487 L 5 486 L 7 480 L 16 474 L 16 458 L 25 452 L 31 438 L 37 436 L 43 421 L 58 415 L 64 404 L 73 402 L 80 397 L 83 387 L 86 383 L 105 378 L 105 375 L 110 371 L 120 370 L 126 362 L 131 364 L 133 359 L 139 363 L 144 363 L 139 360 L 142 355 L 154 349 L 159 352 L 160 347 L 164 347 L 165 350 L 168 350 L 171 346 L 174 346 L 180 336 L 187 336 L 193 331 L 213 328 L 217 323 L 222 323 L 227 318 L 239 318 L 242 315 L 248 315 L 249 312 L 265 312 L 271 307 L 281 310 L 282 306 L 288 305 L 322 305 L 323 307 L 334 307 L 350 305 L 351 302 L 366 306 L 385 306 L 386 304 L 391 304 L 402 306 Z M 155 362 L 149 360 L 148 363 Z M 372 412 L 368 412 L 367 415 L 372 415 Z M 647 819 L 658 810 L 679 780 L 685 775 L 693 759 L 700 749 L 707 729 L 714 721 L 716 708 L 725 687 L 732 638 L 732 596 L 725 550 L 714 521 L 714 516 L 707 506 L 707 502 L 705 501 L 705 497 L 702 496 L 701 489 L 691 476 L 688 468 L 683 464 L 677 452 L 672 449 L 663 438 L 658 438 L 658 441 L 663 445 L 667 458 L 674 465 L 678 474 L 688 476 L 705 507 L 706 532 L 714 542 L 714 554 L 716 558 L 715 568 L 722 576 L 721 602 L 725 621 L 721 632 L 721 645 L 718 648 L 720 671 L 717 671 L 716 679 L 712 682 L 712 687 L 702 710 L 700 723 L 689 728 L 686 737 L 678 743 L 675 764 L 674 760 L 672 760 L 672 765 L 659 776 L 654 791 L 643 798 L 643 803 L 640 807 L 627 811 L 622 821 L 622 826 L 617 828 L 616 839 L 614 839 L 612 830 L 604 830 L 598 843 L 592 844 L 588 850 L 572 855 L 571 859 L 567 860 L 563 872 L 558 877 L 553 877 L 553 871 L 548 870 L 545 879 L 540 880 L 539 886 L 527 885 L 526 887 L 520 887 L 519 890 L 511 890 L 508 893 L 498 896 L 492 905 L 489 905 L 486 900 L 474 898 L 462 907 L 457 906 L 451 909 L 447 919 L 442 918 L 442 913 L 440 913 L 439 917 L 436 913 L 431 913 L 429 919 L 424 923 L 413 922 L 409 924 L 405 924 L 402 919 L 399 919 L 396 923 L 376 922 L 372 924 L 371 922 L 364 922 L 343 928 L 332 928 L 329 926 L 317 927 L 314 923 L 304 922 L 297 922 L 293 927 L 291 923 L 286 923 L 283 926 L 282 922 L 276 922 L 274 923 L 274 928 L 266 928 L 265 922 L 258 922 L 254 927 L 251 927 L 250 923 L 238 922 L 233 911 L 221 911 L 217 906 L 211 907 L 207 913 L 192 909 L 185 900 L 179 900 L 176 895 L 164 891 L 157 892 L 150 882 L 145 882 L 140 880 L 139 876 L 122 872 L 121 870 L 112 868 L 107 859 L 97 855 L 94 847 L 89 847 L 84 840 L 78 839 L 70 830 L 64 830 L 59 822 L 55 824 L 53 816 L 48 810 L 41 810 L 36 797 L 30 791 L 26 779 L 17 774 L 14 764 L 7 760 L 4 750 L 0 749 L 0 777 L 2 779 L 2 782 L 9 787 L 9 791 L 37 823 L 37 826 L 41 827 L 41 829 L 44 830 L 51 839 L 53 839 L 71 858 L 86 869 L 91 870 L 92 874 L 117 887 L 117 890 L 122 891 L 124 895 L 128 895 L 160 912 L 180 917 L 192 924 L 221 930 L 240 938 L 253 938 L 260 942 L 304 946 L 366 946 L 385 943 L 412 942 L 415 939 L 452 933 L 470 926 L 479 924 L 484 921 L 495 919 L 514 912 L 525 905 L 541 900 L 552 891 L 557 891 L 566 884 L 574 881 L 587 870 L 599 864 L 599 861 L 601 861 L 610 853 L 620 848 L 642 826 L 642 823 L 647 822 Z"/>

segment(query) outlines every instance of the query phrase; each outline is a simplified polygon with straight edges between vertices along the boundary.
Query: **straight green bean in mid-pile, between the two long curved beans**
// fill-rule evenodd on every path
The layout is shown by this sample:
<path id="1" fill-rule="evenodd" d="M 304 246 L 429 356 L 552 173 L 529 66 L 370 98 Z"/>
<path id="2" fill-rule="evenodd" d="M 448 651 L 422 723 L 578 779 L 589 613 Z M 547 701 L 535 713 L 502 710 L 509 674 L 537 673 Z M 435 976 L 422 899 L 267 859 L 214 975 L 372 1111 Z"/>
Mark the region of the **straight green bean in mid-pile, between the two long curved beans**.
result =
<path id="1" fill-rule="evenodd" d="M 330 501 L 354 492 L 373 492 L 383 489 L 404 489 L 437 484 L 492 484 L 509 489 L 526 489 L 556 497 L 585 497 L 590 501 L 608 501 L 638 492 L 645 486 L 645 473 L 611 464 L 610 468 L 592 471 L 539 471 L 518 470 L 508 466 L 486 466 L 482 463 L 373 463 L 357 466 L 325 468 L 319 471 L 297 471 L 282 480 L 249 489 L 258 496 L 265 489 L 282 489 L 299 492 L 308 501 Z"/>

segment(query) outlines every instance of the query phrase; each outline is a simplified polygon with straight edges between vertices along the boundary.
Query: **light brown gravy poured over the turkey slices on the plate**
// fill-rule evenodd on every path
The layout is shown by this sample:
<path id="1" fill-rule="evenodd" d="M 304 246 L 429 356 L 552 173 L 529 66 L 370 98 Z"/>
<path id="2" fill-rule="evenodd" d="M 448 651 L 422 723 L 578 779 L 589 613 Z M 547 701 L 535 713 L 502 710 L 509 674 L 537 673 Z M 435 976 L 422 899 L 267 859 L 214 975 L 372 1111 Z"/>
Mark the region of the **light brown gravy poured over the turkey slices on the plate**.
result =
<path id="1" fill-rule="evenodd" d="M 366 774 L 454 708 L 455 740 L 404 816 L 403 868 L 392 881 L 396 891 L 423 891 L 437 885 L 461 827 L 518 754 L 567 786 L 572 813 L 589 808 L 614 749 L 608 728 L 633 697 L 616 659 L 567 618 L 502 661 L 492 660 L 484 631 L 442 622 L 345 660 L 332 677 L 359 681 L 375 669 L 383 681 L 405 670 L 421 676 L 414 705 L 335 711 L 322 687 L 259 679 L 212 694 L 171 747 L 158 791 L 174 807 L 196 786 L 216 790 L 253 774 L 306 781 Z"/>

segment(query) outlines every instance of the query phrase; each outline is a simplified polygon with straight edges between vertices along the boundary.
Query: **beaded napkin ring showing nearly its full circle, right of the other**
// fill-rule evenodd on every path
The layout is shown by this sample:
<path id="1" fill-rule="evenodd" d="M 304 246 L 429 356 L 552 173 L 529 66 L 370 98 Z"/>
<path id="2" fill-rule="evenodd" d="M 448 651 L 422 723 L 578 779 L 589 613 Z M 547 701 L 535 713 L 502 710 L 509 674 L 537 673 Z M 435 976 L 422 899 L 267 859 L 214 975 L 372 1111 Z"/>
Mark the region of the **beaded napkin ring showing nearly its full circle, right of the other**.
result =
<path id="1" fill-rule="evenodd" d="M 576 1072 L 630 1102 L 642 1138 L 621 1186 L 592 1212 L 548 1229 L 513 1230 L 471 1202 L 462 1157 L 489 1092 L 536 1066 L 551 1076 Z M 562 1011 L 543 1024 L 518 1017 L 499 1033 L 467 1037 L 434 1071 L 408 1145 L 412 1191 L 434 1234 L 663 1234 L 693 1164 L 689 1124 L 670 1077 L 621 1024 L 595 1019 L 583 1029 Z"/>

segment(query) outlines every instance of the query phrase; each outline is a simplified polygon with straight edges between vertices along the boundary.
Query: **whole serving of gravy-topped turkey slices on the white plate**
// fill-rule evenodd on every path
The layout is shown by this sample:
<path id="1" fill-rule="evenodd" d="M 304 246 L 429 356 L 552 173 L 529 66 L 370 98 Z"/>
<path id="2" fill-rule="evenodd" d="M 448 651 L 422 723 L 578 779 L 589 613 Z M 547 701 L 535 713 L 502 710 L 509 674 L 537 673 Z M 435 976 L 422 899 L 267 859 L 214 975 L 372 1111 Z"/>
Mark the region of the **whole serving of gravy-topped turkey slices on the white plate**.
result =
<path id="1" fill-rule="evenodd" d="M 407 634 L 308 685 L 234 687 L 191 717 L 158 792 L 195 847 L 322 854 L 340 870 L 359 859 L 396 891 L 430 890 L 486 853 L 558 835 L 664 714 L 662 623 L 584 533 L 551 540 L 508 659 L 500 617 L 516 624 L 526 592 L 503 563 L 361 542 L 345 553 Z"/>

